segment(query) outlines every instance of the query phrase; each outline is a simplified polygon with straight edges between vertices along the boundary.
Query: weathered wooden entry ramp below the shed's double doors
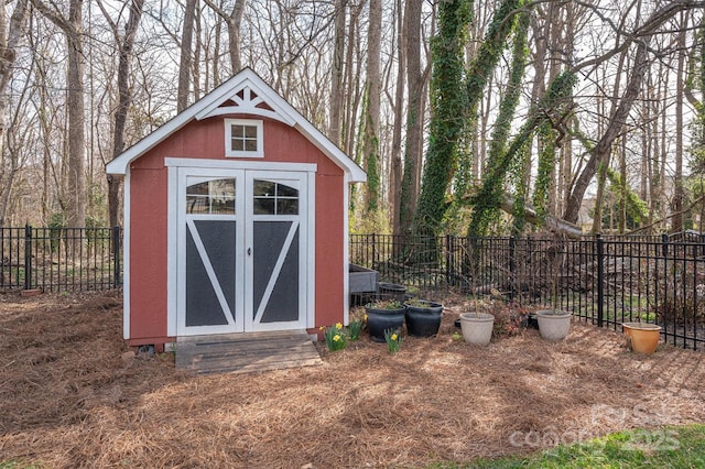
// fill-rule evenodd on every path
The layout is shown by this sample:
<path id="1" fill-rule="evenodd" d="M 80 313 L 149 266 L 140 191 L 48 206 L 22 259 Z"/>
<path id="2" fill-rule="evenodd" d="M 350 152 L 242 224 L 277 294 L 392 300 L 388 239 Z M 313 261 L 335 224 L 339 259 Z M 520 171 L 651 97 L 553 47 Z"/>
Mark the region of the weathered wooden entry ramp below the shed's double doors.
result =
<path id="1" fill-rule="evenodd" d="M 249 373 L 322 364 L 305 330 L 180 337 L 176 369 L 195 373 Z"/>

